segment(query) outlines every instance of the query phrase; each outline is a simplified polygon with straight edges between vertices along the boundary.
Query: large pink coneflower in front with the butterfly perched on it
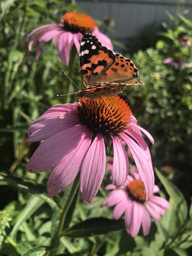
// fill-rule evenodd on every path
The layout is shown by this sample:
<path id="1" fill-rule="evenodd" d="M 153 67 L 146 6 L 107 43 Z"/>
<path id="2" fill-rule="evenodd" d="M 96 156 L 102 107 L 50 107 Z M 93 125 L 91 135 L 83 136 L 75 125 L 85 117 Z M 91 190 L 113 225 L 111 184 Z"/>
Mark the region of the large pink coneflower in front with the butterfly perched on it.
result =
<path id="1" fill-rule="evenodd" d="M 32 173 L 52 168 L 47 183 L 50 196 L 66 188 L 80 171 L 82 200 L 91 202 L 105 173 L 105 145 L 111 143 L 114 186 L 122 186 L 128 176 L 126 143 L 146 186 L 147 199 L 152 196 L 154 172 L 141 130 L 153 143 L 152 136 L 136 124 L 128 104 L 119 96 L 103 100 L 80 98 L 78 104 L 55 105 L 30 125 L 27 142 L 44 141 L 26 168 Z"/>

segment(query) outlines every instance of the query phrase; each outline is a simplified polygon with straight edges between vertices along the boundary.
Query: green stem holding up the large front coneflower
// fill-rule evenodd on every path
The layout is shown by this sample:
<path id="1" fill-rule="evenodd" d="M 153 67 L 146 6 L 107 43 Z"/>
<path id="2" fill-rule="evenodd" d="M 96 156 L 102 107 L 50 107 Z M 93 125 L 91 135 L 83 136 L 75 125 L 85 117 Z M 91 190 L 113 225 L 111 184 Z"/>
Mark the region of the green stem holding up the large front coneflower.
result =
<path id="1" fill-rule="evenodd" d="M 51 252 L 50 252 L 50 256 L 54 254 L 54 250 L 55 248 L 58 246 L 59 244 L 59 238 L 62 234 L 62 230 L 63 230 L 63 226 L 64 226 L 64 223 L 65 223 L 65 218 L 66 218 L 66 214 L 68 212 L 68 209 L 70 208 L 70 205 L 72 204 L 72 201 L 74 199 L 74 196 L 76 194 L 76 191 L 79 187 L 79 175 L 76 176 L 75 180 L 74 180 L 74 183 L 73 183 L 73 186 L 71 188 L 71 192 L 69 194 L 69 197 L 68 197 L 68 200 L 66 202 L 66 204 L 64 205 L 62 211 L 61 211 L 61 214 L 60 214 L 60 222 L 59 222 L 59 227 L 58 227 L 58 230 L 52 240 L 52 243 L 51 243 Z"/>

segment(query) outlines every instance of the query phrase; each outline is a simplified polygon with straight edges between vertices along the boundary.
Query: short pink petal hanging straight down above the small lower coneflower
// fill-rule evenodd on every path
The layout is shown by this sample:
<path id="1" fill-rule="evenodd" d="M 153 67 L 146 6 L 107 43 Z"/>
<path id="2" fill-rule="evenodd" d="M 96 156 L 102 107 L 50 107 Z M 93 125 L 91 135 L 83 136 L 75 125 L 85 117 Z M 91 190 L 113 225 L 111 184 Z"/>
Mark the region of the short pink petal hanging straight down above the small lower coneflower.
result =
<path id="1" fill-rule="evenodd" d="M 112 182 L 119 188 L 122 186 L 129 173 L 129 160 L 127 152 L 116 136 L 112 136 L 113 140 L 113 150 L 114 150 L 114 160 L 112 167 Z"/>

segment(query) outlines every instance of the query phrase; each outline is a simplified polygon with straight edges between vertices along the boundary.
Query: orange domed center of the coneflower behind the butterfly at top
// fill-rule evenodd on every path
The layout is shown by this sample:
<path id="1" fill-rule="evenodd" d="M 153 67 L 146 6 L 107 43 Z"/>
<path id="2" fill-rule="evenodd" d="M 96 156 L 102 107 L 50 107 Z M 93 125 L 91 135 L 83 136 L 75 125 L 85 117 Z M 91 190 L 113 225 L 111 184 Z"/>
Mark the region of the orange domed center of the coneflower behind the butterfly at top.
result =
<path id="1" fill-rule="evenodd" d="M 81 12 L 68 12 L 61 18 L 64 28 L 72 33 L 92 33 L 96 26 L 94 20 L 87 14 Z"/>

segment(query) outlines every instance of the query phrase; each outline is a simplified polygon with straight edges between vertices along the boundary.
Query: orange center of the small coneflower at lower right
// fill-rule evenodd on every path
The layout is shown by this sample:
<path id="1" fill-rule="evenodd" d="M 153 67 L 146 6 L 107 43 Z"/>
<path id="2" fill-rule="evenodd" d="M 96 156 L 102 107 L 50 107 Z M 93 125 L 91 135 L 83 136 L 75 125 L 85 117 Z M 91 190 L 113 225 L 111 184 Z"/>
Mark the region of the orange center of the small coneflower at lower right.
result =
<path id="1" fill-rule="evenodd" d="M 134 201 L 143 203 L 146 201 L 146 190 L 142 180 L 132 180 L 128 184 L 129 196 Z"/>

